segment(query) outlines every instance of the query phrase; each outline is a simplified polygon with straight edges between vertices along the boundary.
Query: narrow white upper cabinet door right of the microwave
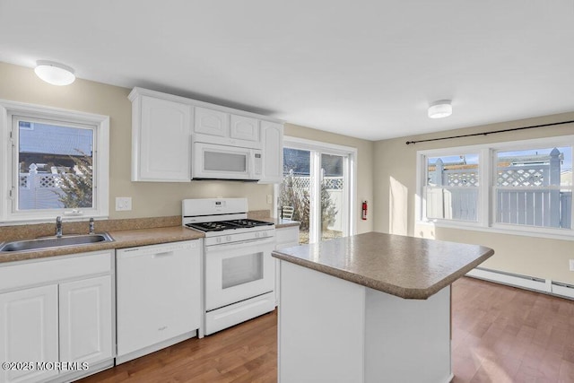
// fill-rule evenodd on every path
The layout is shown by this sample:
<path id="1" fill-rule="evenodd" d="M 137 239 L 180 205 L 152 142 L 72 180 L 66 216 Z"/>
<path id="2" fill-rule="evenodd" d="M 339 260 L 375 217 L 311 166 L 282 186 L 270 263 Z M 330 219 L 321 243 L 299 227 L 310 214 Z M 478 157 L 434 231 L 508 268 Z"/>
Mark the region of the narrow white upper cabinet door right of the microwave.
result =
<path id="1" fill-rule="evenodd" d="M 279 183 L 283 177 L 283 125 L 261 121 L 263 175 L 259 183 Z"/>

